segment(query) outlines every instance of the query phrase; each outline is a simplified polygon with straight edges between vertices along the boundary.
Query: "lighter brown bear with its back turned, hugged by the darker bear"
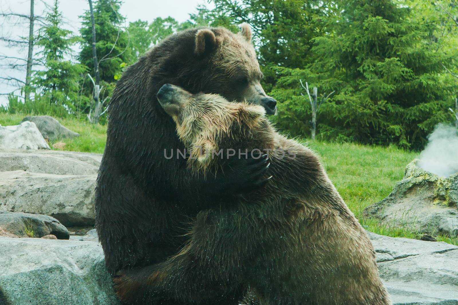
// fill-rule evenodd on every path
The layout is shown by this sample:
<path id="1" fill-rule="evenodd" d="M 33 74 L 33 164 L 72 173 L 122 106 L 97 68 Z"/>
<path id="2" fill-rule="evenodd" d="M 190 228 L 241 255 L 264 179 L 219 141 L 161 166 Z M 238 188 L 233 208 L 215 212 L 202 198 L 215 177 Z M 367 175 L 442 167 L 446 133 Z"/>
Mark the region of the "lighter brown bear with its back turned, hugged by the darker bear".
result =
<path id="1" fill-rule="evenodd" d="M 201 211 L 169 260 L 121 272 L 121 300 L 169 294 L 194 304 L 242 285 L 265 305 L 391 304 L 371 241 L 311 150 L 276 133 L 260 106 L 170 85 L 158 99 L 191 169 L 214 174 L 234 151 L 260 150 L 273 178 L 237 204 Z"/>

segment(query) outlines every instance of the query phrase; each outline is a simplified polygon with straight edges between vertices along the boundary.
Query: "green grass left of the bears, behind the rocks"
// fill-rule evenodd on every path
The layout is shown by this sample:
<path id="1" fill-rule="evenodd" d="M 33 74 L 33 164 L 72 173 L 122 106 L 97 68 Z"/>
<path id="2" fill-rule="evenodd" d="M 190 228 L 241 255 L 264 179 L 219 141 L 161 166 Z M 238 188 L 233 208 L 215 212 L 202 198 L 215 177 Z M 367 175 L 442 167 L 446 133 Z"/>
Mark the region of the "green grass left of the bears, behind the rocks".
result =
<path id="1" fill-rule="evenodd" d="M 26 114 L 5 114 L 0 113 L 0 125 L 17 125 L 25 118 Z M 80 137 L 74 139 L 57 139 L 49 143 L 52 147 L 56 142 L 64 142 L 64 150 L 83 151 L 102 154 L 106 143 L 106 125 L 94 125 L 87 122 L 82 122 L 76 118 L 57 118 L 57 120 L 66 128 L 81 134 Z"/>

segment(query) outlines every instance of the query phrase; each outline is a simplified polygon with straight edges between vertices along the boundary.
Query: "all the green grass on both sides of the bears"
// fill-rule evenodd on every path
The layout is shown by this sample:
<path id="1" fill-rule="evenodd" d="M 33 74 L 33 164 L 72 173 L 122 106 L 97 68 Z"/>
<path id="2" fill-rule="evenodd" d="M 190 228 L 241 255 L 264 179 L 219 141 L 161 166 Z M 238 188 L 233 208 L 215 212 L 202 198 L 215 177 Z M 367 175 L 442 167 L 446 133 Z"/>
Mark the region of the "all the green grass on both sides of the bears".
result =
<path id="1" fill-rule="evenodd" d="M 16 125 L 26 115 L 0 113 L 0 124 Z M 81 134 L 75 139 L 63 139 L 65 150 L 103 153 L 106 142 L 106 126 L 93 125 L 76 119 L 58 118 L 67 128 Z M 53 141 L 50 146 L 58 141 Z M 360 144 L 336 144 L 320 141 L 304 141 L 320 155 L 327 173 L 345 203 L 360 220 L 365 229 L 392 237 L 419 238 L 421 232 L 405 226 L 398 228 L 390 223 L 366 218 L 363 210 L 371 203 L 382 200 L 404 176 L 405 166 L 418 157 L 418 153 L 395 146 L 380 147 Z M 436 236 L 438 241 L 458 245 L 457 238 Z"/>

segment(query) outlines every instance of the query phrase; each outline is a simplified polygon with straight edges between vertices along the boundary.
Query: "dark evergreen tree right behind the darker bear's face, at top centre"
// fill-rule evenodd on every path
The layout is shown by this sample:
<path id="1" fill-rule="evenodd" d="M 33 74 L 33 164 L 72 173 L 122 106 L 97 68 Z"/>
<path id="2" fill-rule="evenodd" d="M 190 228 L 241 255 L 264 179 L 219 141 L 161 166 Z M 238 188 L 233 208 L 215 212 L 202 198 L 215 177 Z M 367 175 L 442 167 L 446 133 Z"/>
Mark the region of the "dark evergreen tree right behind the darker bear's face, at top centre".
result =
<path id="1" fill-rule="evenodd" d="M 321 0 L 213 0 L 213 14 L 232 25 L 247 22 L 254 32 L 264 89 L 277 82 L 272 68 L 304 68 L 311 62 L 313 38 L 324 35 L 332 1 Z M 222 17 L 221 17 L 222 18 Z"/>

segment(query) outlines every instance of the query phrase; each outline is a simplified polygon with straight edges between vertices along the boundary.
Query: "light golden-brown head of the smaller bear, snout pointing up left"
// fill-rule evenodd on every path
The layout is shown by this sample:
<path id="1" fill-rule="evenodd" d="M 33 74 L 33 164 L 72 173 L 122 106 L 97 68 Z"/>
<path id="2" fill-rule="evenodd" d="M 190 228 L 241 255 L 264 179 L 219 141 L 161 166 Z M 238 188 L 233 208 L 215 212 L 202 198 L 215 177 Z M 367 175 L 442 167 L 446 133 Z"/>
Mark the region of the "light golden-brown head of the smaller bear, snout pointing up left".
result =
<path id="1" fill-rule="evenodd" d="M 229 102 L 218 94 L 191 94 L 165 84 L 157 94 L 160 105 L 176 123 L 177 134 L 190 150 L 188 165 L 206 172 L 214 152 L 225 141 L 236 142 L 266 122 L 260 105 Z"/>

